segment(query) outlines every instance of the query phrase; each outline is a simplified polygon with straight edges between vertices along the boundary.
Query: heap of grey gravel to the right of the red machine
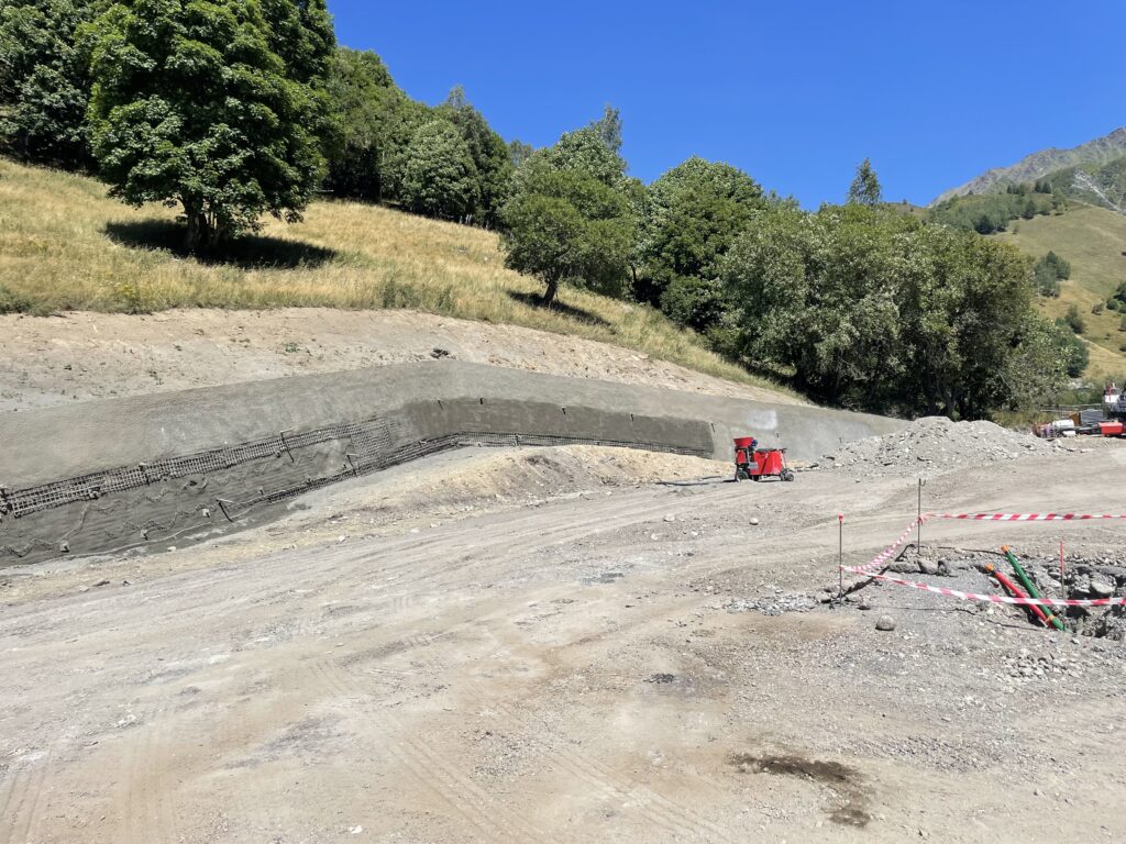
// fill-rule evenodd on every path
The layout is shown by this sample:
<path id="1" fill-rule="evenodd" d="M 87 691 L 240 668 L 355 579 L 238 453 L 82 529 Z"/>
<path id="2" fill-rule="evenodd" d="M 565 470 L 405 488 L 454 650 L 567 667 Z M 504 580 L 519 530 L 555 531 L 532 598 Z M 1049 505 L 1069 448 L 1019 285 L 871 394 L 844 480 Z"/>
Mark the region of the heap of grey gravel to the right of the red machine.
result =
<path id="1" fill-rule="evenodd" d="M 825 455 L 828 468 L 863 468 L 872 475 L 940 475 L 954 469 L 1051 455 L 1060 445 L 992 422 L 951 422 L 924 416 L 902 431 L 848 442 Z"/>

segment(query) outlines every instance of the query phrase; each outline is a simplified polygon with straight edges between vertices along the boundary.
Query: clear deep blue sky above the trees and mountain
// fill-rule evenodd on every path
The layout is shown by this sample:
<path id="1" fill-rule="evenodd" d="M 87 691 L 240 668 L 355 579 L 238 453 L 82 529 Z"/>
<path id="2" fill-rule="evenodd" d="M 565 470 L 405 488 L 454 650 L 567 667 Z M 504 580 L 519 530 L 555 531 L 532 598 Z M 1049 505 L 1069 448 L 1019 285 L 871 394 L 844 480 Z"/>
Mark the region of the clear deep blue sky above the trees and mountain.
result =
<path id="1" fill-rule="evenodd" d="M 408 95 L 455 84 L 506 140 L 622 111 L 629 171 L 727 161 L 803 205 L 870 156 L 926 204 L 990 167 L 1126 124 L 1126 2 L 370 3 L 329 0 L 341 44 Z"/>

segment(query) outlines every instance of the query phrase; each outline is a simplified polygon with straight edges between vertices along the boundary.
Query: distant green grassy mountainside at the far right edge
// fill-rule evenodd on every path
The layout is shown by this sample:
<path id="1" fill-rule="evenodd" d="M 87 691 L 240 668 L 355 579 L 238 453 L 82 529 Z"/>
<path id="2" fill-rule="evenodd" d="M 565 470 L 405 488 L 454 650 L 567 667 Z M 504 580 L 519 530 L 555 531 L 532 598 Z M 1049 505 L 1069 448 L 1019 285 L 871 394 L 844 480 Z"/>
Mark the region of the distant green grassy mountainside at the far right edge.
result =
<path id="1" fill-rule="evenodd" d="M 992 235 L 1015 243 L 1022 252 L 1040 257 L 1048 250 L 1071 262 L 1071 279 L 1061 284 L 1060 298 L 1040 299 L 1049 316 L 1061 316 L 1067 306 L 1079 306 L 1087 322 L 1084 339 L 1090 341 L 1092 376 L 1126 372 L 1126 332 L 1119 331 L 1123 314 L 1091 306 L 1105 302 L 1126 281 L 1126 217 L 1103 208 L 1075 206 L 1063 215 L 1021 219 L 1008 232 Z"/>

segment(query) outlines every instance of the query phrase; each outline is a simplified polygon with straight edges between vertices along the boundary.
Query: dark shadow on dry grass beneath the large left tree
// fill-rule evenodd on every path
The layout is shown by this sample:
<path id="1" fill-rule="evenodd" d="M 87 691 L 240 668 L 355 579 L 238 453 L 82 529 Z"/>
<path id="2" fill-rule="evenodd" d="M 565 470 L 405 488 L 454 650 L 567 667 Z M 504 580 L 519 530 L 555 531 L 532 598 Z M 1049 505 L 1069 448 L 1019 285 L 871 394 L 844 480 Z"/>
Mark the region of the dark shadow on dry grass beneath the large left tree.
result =
<path id="1" fill-rule="evenodd" d="M 324 246 L 259 234 L 245 234 L 214 249 L 188 252 L 184 248 L 185 231 L 182 224 L 170 219 L 106 224 L 106 236 L 123 246 L 161 250 L 199 263 L 226 264 L 244 270 L 320 267 L 338 255 L 336 250 Z"/>

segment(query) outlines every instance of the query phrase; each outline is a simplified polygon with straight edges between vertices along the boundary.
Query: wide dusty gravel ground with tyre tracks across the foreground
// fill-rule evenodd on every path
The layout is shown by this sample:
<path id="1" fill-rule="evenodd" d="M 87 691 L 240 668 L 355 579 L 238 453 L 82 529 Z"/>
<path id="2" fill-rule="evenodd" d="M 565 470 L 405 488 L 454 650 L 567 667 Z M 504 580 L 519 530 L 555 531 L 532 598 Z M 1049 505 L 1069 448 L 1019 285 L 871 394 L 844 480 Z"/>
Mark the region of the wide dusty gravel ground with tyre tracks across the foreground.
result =
<path id="1" fill-rule="evenodd" d="M 1126 450 L 1028 457 L 927 494 L 1101 512 L 1124 500 L 1124 465 Z M 1126 834 L 1120 643 L 899 587 L 744 611 L 834 582 L 839 511 L 865 562 L 913 515 L 912 478 L 581 478 L 551 501 L 486 493 L 400 520 L 379 485 L 432 468 L 218 545 L 11 575 L 0 842 Z M 1066 530 L 1121 563 L 1126 528 Z M 894 631 L 875 629 L 883 613 Z M 1013 676 L 1048 653 L 1076 672 Z"/>

